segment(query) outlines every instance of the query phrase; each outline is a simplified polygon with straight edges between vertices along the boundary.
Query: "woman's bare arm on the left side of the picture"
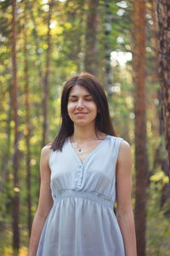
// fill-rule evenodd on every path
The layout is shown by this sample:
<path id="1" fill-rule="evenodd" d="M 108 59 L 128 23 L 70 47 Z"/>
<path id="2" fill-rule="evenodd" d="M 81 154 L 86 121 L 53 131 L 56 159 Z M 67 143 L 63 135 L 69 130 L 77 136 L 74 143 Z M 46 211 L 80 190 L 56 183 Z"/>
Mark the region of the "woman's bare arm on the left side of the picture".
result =
<path id="1" fill-rule="evenodd" d="M 42 148 L 41 158 L 40 158 L 40 175 L 41 175 L 41 185 L 40 185 L 40 196 L 37 206 L 37 212 L 35 214 L 32 228 L 31 228 L 31 238 L 28 249 L 28 256 L 36 256 L 37 246 L 42 233 L 42 228 L 45 223 L 48 213 L 53 207 L 53 198 L 50 190 L 50 168 L 48 166 L 48 159 L 51 149 L 48 146 Z"/>

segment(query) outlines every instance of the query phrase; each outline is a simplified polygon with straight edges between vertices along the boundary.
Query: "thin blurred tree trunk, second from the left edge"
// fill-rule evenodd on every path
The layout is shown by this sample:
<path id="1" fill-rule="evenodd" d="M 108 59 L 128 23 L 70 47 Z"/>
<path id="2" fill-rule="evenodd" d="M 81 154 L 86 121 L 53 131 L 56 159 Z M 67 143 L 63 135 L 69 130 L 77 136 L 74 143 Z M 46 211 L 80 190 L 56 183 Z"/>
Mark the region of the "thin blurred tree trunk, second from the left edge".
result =
<path id="1" fill-rule="evenodd" d="M 25 108 L 26 108 L 26 187 L 27 187 L 27 227 L 28 232 L 31 235 L 31 149 L 30 149 L 30 137 L 31 137 L 31 128 L 30 128 L 30 91 L 29 91 L 29 80 L 28 80 L 28 50 L 27 50 L 27 10 L 28 10 L 28 0 L 25 2 L 25 15 L 24 15 L 24 66 L 25 66 Z"/>

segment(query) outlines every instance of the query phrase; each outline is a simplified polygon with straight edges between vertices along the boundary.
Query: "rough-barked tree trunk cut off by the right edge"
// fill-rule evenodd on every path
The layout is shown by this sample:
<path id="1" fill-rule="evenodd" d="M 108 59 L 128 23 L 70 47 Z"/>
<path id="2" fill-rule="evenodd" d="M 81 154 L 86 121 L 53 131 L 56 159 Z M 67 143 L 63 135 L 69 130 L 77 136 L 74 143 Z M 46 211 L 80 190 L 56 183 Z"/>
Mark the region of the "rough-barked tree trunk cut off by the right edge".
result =
<path id="1" fill-rule="evenodd" d="M 157 15 L 159 25 L 159 75 L 161 80 L 161 104 L 163 126 L 170 175 L 170 3 L 158 0 Z"/>

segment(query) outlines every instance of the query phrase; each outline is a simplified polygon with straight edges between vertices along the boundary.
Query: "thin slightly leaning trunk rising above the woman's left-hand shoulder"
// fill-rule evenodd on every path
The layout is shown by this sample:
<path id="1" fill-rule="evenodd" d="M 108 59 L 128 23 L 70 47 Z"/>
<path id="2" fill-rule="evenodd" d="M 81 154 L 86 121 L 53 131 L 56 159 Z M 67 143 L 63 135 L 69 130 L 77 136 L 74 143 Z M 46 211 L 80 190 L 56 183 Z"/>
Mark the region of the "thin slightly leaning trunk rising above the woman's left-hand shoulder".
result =
<path id="1" fill-rule="evenodd" d="M 44 87 L 43 87 L 43 100 L 42 100 L 42 110 L 43 110 L 43 130 L 42 130 L 42 147 L 45 145 L 47 140 L 47 131 L 48 131 L 48 80 L 49 80 L 49 61 L 51 54 L 51 16 L 54 0 L 51 0 L 48 3 L 48 38 L 47 38 L 47 58 L 46 58 L 46 71 L 44 76 Z"/>

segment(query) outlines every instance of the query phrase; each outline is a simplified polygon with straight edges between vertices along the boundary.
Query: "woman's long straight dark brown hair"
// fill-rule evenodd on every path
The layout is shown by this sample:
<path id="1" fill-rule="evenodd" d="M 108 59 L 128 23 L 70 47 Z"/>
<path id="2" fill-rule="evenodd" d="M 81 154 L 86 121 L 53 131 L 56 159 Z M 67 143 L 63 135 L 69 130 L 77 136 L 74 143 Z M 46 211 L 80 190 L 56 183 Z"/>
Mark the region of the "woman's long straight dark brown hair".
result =
<path id="1" fill-rule="evenodd" d="M 99 80 L 91 73 L 83 72 L 68 79 L 65 83 L 61 96 L 61 125 L 58 135 L 51 143 L 54 150 L 61 150 L 65 143 L 65 138 L 74 132 L 74 124 L 67 113 L 67 103 L 71 88 L 75 85 L 81 85 L 94 97 L 98 113 L 95 119 L 95 131 L 104 132 L 107 135 L 116 136 L 116 132 L 111 123 L 109 107 L 105 90 Z"/>

